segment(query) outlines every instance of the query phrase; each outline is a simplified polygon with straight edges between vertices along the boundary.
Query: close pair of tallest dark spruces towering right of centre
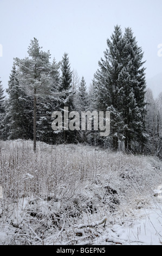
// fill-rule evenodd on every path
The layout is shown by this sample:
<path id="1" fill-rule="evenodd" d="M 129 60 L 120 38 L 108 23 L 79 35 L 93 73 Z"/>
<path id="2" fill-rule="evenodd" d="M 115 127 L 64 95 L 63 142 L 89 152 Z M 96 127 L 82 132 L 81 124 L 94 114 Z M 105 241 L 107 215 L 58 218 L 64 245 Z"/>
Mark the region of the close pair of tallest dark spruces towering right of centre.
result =
<path id="1" fill-rule="evenodd" d="M 96 108 L 111 112 L 112 148 L 142 150 L 145 133 L 145 69 L 131 29 L 115 26 L 105 59 L 94 75 Z M 140 94 L 140 95 L 139 95 Z M 102 109 L 101 109 L 102 108 Z M 104 138 L 105 139 L 105 138 Z"/>

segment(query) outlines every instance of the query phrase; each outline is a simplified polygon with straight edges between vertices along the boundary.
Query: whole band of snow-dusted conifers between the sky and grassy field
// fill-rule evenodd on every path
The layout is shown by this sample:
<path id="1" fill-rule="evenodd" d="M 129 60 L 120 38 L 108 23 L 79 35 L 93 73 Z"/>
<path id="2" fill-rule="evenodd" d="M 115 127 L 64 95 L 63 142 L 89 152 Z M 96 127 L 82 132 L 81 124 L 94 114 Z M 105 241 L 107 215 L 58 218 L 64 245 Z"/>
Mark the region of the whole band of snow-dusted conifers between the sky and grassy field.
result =
<path id="1" fill-rule="evenodd" d="M 154 100 L 146 89 L 141 47 L 131 28 L 123 34 L 115 26 L 104 58 L 94 74 L 89 91 L 84 77 L 71 70 L 67 53 L 57 63 L 50 63 L 50 52 L 42 51 L 34 38 L 28 47 L 29 57 L 14 59 L 8 82 L 8 99 L 0 82 L 1 139 L 33 139 L 50 144 L 89 143 L 114 150 L 126 150 L 161 156 L 162 94 Z M 92 129 L 54 131 L 52 113 L 60 111 L 109 111 L 111 132 L 101 137 Z M 92 118 L 92 124 L 93 124 Z M 76 125 L 76 124 L 75 124 Z M 93 126 L 93 125 L 92 125 Z"/>

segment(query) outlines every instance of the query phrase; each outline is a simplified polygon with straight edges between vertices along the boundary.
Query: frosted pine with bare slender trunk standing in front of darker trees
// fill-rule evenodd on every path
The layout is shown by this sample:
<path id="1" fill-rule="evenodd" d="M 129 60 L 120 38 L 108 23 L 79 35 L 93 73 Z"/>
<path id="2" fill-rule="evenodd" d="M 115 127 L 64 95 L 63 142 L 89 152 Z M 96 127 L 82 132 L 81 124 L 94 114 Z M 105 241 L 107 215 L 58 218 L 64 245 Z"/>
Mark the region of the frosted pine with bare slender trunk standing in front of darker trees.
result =
<path id="1" fill-rule="evenodd" d="M 50 78 L 50 53 L 41 50 L 38 40 L 31 40 L 28 47 L 29 57 L 25 59 L 16 58 L 16 64 L 20 69 L 19 82 L 25 92 L 33 96 L 34 108 L 34 151 L 36 151 L 36 105 L 37 97 L 46 97 L 51 89 Z"/>

